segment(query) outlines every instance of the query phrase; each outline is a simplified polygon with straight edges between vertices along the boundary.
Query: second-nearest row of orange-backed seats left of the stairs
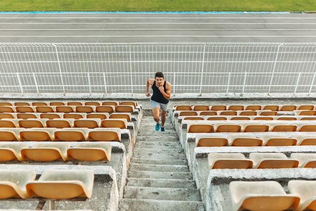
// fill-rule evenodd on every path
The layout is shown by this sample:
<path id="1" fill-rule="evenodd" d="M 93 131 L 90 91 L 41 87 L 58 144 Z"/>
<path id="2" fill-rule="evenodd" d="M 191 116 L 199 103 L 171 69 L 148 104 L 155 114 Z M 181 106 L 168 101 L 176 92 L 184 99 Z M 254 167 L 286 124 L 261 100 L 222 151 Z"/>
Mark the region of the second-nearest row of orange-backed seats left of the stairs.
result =
<path id="1" fill-rule="evenodd" d="M 80 142 L 70 147 L 67 142 L 39 142 L 29 147 L 25 142 L 0 142 L 0 161 L 111 160 L 109 142 Z M 0 173 L 1 174 L 1 173 Z"/>

